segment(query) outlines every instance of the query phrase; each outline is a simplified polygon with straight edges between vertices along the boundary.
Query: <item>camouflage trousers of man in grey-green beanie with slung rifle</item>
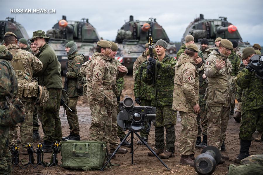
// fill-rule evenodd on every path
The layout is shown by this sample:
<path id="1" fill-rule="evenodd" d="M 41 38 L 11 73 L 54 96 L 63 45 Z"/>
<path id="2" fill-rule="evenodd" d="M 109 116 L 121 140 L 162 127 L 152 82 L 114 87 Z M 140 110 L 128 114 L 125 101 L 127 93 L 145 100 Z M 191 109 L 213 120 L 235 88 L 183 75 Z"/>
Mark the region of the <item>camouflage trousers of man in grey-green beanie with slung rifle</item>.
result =
<path id="1" fill-rule="evenodd" d="M 70 111 L 66 108 L 66 114 L 68 119 L 68 125 L 70 126 L 70 132 L 74 135 L 79 135 L 79 118 L 77 115 L 77 97 L 68 97 L 68 107 L 72 110 Z"/>

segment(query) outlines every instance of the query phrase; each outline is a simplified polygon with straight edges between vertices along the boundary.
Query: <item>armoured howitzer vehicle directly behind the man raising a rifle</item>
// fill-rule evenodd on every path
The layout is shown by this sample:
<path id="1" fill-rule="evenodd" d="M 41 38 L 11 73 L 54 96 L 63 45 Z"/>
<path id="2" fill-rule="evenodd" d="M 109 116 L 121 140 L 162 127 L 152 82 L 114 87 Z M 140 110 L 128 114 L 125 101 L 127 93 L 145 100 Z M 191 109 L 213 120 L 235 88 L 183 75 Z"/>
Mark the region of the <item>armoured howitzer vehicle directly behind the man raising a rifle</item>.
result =
<path id="1" fill-rule="evenodd" d="M 176 57 L 176 46 L 172 43 L 165 30 L 156 19 L 146 21 L 134 20 L 133 16 L 125 20 L 125 24 L 118 30 L 115 42 L 118 43 L 117 59 L 132 72 L 133 63 L 145 50 L 148 36 L 152 34 L 153 43 L 163 39 L 168 43 L 167 54 Z"/>

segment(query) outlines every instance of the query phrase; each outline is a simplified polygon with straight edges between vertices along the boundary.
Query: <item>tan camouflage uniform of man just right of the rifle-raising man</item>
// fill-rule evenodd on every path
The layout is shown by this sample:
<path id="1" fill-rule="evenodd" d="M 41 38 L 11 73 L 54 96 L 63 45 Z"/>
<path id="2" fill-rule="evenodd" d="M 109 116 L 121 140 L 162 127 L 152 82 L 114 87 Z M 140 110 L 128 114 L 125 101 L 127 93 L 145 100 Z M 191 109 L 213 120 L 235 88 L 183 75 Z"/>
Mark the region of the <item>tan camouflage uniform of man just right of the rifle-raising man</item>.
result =
<path id="1" fill-rule="evenodd" d="M 180 155 L 195 154 L 197 121 L 193 106 L 198 104 L 198 89 L 198 72 L 193 58 L 183 53 L 175 65 L 173 93 L 173 109 L 181 116 Z"/>

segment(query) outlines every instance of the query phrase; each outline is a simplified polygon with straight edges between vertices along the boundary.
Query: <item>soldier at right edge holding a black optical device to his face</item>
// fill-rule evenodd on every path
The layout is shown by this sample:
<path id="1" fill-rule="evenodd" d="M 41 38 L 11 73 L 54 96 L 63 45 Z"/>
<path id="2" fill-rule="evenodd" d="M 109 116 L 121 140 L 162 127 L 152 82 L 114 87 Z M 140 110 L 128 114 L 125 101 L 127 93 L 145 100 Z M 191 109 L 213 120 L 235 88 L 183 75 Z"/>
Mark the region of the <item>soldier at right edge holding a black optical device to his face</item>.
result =
<path id="1" fill-rule="evenodd" d="M 243 49 L 243 57 L 249 63 L 250 58 L 255 54 L 252 47 Z M 242 121 L 239 129 L 240 154 L 235 159 L 235 163 L 240 163 L 240 160 L 249 156 L 252 134 L 256 127 L 261 129 L 259 132 L 263 129 L 263 81 L 255 76 L 255 72 L 242 69 L 237 76 L 237 85 L 243 88 Z"/>

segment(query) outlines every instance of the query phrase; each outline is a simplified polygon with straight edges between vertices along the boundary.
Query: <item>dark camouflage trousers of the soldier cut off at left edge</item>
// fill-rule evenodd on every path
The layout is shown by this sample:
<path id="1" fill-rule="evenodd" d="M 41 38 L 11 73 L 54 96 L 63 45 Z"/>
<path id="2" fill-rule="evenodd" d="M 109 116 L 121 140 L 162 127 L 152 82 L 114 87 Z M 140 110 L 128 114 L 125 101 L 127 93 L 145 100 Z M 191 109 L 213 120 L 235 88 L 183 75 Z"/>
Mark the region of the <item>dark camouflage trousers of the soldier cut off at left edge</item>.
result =
<path id="1" fill-rule="evenodd" d="M 8 146 L 10 127 L 0 126 L 0 174 L 12 173 L 11 152 Z"/>

